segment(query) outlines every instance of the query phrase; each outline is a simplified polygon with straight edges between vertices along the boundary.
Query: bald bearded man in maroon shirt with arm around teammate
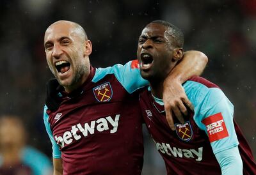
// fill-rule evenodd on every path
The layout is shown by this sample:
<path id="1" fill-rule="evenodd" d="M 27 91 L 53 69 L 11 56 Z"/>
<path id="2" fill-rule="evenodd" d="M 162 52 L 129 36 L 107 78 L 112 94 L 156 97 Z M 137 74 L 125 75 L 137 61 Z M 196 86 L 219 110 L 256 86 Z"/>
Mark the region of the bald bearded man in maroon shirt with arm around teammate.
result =
<path id="1" fill-rule="evenodd" d="M 56 79 L 48 83 L 44 123 L 52 142 L 54 174 L 141 174 L 143 138 L 138 61 L 93 68 L 92 43 L 79 24 L 61 20 L 45 31 L 47 63 Z M 204 70 L 207 57 L 190 51 L 164 84 L 172 111 L 180 118 L 193 108 L 182 82 Z M 171 98 L 171 100 L 170 100 Z M 181 110 L 181 112 L 180 112 Z M 167 113 L 167 112 L 166 112 Z"/>

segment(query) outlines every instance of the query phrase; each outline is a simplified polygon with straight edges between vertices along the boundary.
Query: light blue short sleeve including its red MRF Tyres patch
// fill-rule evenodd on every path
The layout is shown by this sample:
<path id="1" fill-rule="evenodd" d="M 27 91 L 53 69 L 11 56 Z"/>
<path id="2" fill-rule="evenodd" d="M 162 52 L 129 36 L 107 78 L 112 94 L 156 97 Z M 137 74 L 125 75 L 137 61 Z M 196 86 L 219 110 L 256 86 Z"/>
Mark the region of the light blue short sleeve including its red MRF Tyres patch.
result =
<path id="1" fill-rule="evenodd" d="M 220 89 L 209 90 L 200 114 L 200 128 L 207 133 L 214 154 L 239 144 L 233 122 L 234 106 Z"/>

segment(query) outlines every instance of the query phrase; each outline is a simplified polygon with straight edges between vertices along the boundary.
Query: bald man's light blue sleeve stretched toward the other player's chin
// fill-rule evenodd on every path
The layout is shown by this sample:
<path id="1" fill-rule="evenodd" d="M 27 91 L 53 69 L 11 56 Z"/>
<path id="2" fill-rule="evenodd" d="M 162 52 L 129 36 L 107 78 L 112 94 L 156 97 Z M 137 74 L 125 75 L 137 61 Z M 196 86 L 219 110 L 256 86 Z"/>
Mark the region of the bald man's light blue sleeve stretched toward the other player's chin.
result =
<path id="1" fill-rule="evenodd" d="M 93 82 L 103 79 L 108 74 L 114 74 L 128 93 L 147 86 L 149 83 L 140 75 L 138 60 L 129 61 L 125 65 L 114 65 L 107 68 L 97 68 Z"/>

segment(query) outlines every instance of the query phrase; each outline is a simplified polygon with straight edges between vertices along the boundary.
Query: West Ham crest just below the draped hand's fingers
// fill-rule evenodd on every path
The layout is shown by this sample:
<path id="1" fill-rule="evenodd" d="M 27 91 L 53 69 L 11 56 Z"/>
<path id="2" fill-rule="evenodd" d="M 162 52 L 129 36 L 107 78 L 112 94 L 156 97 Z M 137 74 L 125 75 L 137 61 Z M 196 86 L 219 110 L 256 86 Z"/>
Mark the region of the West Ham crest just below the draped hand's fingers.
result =
<path id="1" fill-rule="evenodd" d="M 182 141 L 190 141 L 193 135 L 193 131 L 189 121 L 186 121 L 184 124 L 182 123 L 175 123 L 175 130 L 178 137 Z"/>

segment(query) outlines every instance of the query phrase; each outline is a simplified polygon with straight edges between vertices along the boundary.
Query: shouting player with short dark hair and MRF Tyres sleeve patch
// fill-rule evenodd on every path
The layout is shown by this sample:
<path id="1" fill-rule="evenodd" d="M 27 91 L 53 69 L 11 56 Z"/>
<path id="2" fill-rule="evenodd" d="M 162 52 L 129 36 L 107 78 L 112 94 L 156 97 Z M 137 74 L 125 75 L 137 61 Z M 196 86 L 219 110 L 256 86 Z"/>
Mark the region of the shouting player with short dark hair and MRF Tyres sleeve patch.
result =
<path id="1" fill-rule="evenodd" d="M 195 107 L 175 131 L 165 118 L 163 82 L 183 56 L 184 37 L 178 27 L 153 21 L 142 31 L 137 56 L 140 72 L 150 82 L 140 94 L 148 132 L 168 174 L 256 174 L 248 143 L 233 118 L 234 107 L 218 86 L 201 77 L 183 87 Z"/>

